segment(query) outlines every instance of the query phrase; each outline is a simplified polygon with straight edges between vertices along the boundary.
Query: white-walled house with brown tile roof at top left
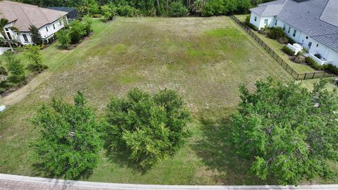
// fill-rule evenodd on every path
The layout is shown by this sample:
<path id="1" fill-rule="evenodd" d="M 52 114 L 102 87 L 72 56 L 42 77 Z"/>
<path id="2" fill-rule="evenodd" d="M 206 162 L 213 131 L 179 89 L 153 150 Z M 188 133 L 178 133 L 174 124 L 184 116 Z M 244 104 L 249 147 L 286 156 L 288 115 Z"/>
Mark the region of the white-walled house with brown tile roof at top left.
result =
<path id="1" fill-rule="evenodd" d="M 64 11 L 55 11 L 30 4 L 0 1 L 0 18 L 8 20 L 8 25 L 4 27 L 5 38 L 15 39 L 23 45 L 32 44 L 29 29 L 31 25 L 35 25 L 44 42 L 48 42 L 58 30 L 68 25 L 67 14 Z M 13 32 L 8 27 L 16 27 L 20 33 Z"/>

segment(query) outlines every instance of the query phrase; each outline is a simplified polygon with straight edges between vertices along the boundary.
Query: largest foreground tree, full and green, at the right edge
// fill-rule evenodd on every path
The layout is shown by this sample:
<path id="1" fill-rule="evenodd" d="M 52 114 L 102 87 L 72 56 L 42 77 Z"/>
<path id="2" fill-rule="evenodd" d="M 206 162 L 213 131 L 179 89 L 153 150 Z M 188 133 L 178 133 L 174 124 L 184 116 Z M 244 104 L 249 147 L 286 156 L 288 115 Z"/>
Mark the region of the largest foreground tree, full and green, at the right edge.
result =
<path id="1" fill-rule="evenodd" d="M 332 178 L 330 162 L 338 162 L 338 93 L 326 82 L 313 91 L 288 85 L 256 82 L 256 92 L 242 86 L 237 113 L 232 116 L 232 142 L 251 172 L 279 184 L 302 179 Z"/>

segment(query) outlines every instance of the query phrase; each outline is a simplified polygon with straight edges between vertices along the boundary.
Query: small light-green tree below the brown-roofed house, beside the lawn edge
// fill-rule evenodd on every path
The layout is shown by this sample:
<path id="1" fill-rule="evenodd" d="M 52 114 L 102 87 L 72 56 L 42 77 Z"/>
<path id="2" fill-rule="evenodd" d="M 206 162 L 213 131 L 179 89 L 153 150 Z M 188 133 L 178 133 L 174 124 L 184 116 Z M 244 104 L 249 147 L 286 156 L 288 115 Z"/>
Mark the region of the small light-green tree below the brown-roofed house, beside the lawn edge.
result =
<path id="1" fill-rule="evenodd" d="M 42 72 L 46 66 L 42 64 L 42 54 L 40 53 L 40 46 L 25 46 L 25 57 L 30 61 L 30 68 L 37 72 Z"/>

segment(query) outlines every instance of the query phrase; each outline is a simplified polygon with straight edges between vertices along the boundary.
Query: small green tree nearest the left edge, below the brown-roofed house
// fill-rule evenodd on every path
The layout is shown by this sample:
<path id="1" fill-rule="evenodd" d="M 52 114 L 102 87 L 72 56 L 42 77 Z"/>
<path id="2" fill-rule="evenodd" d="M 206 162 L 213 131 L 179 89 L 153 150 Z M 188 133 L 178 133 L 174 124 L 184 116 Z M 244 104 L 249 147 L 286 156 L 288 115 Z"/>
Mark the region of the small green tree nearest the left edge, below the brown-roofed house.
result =
<path id="1" fill-rule="evenodd" d="M 5 52 L 5 61 L 6 68 L 11 73 L 12 82 L 21 82 L 25 79 L 25 69 L 23 68 L 23 63 L 21 63 L 20 59 L 15 58 L 12 52 Z"/>

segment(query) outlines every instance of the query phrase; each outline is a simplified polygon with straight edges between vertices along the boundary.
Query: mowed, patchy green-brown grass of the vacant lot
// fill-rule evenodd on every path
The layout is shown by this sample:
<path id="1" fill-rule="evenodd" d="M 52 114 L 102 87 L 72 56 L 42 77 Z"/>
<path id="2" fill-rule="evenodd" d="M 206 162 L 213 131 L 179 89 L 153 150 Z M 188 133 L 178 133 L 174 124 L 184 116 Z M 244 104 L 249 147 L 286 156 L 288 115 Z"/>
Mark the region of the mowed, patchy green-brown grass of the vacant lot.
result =
<path id="1" fill-rule="evenodd" d="M 101 152 L 93 174 L 82 180 L 137 184 L 274 184 L 250 175 L 227 144 L 238 87 L 256 80 L 292 80 L 280 65 L 227 17 L 118 18 L 94 22 L 94 34 L 71 51 L 54 44 L 42 51 L 49 75 L 35 91 L 0 113 L 0 172 L 46 176 L 35 166 L 30 143 L 37 130 L 29 119 L 51 97 L 72 101 L 80 90 L 104 116 L 111 96 L 128 89 L 175 89 L 187 102 L 192 137 L 173 158 L 145 174 L 117 155 Z M 18 55 L 22 56 L 22 55 Z M 24 58 L 23 61 L 25 62 Z M 29 85 L 29 84 L 28 84 Z M 1 101 L 0 101 L 1 103 Z"/>

